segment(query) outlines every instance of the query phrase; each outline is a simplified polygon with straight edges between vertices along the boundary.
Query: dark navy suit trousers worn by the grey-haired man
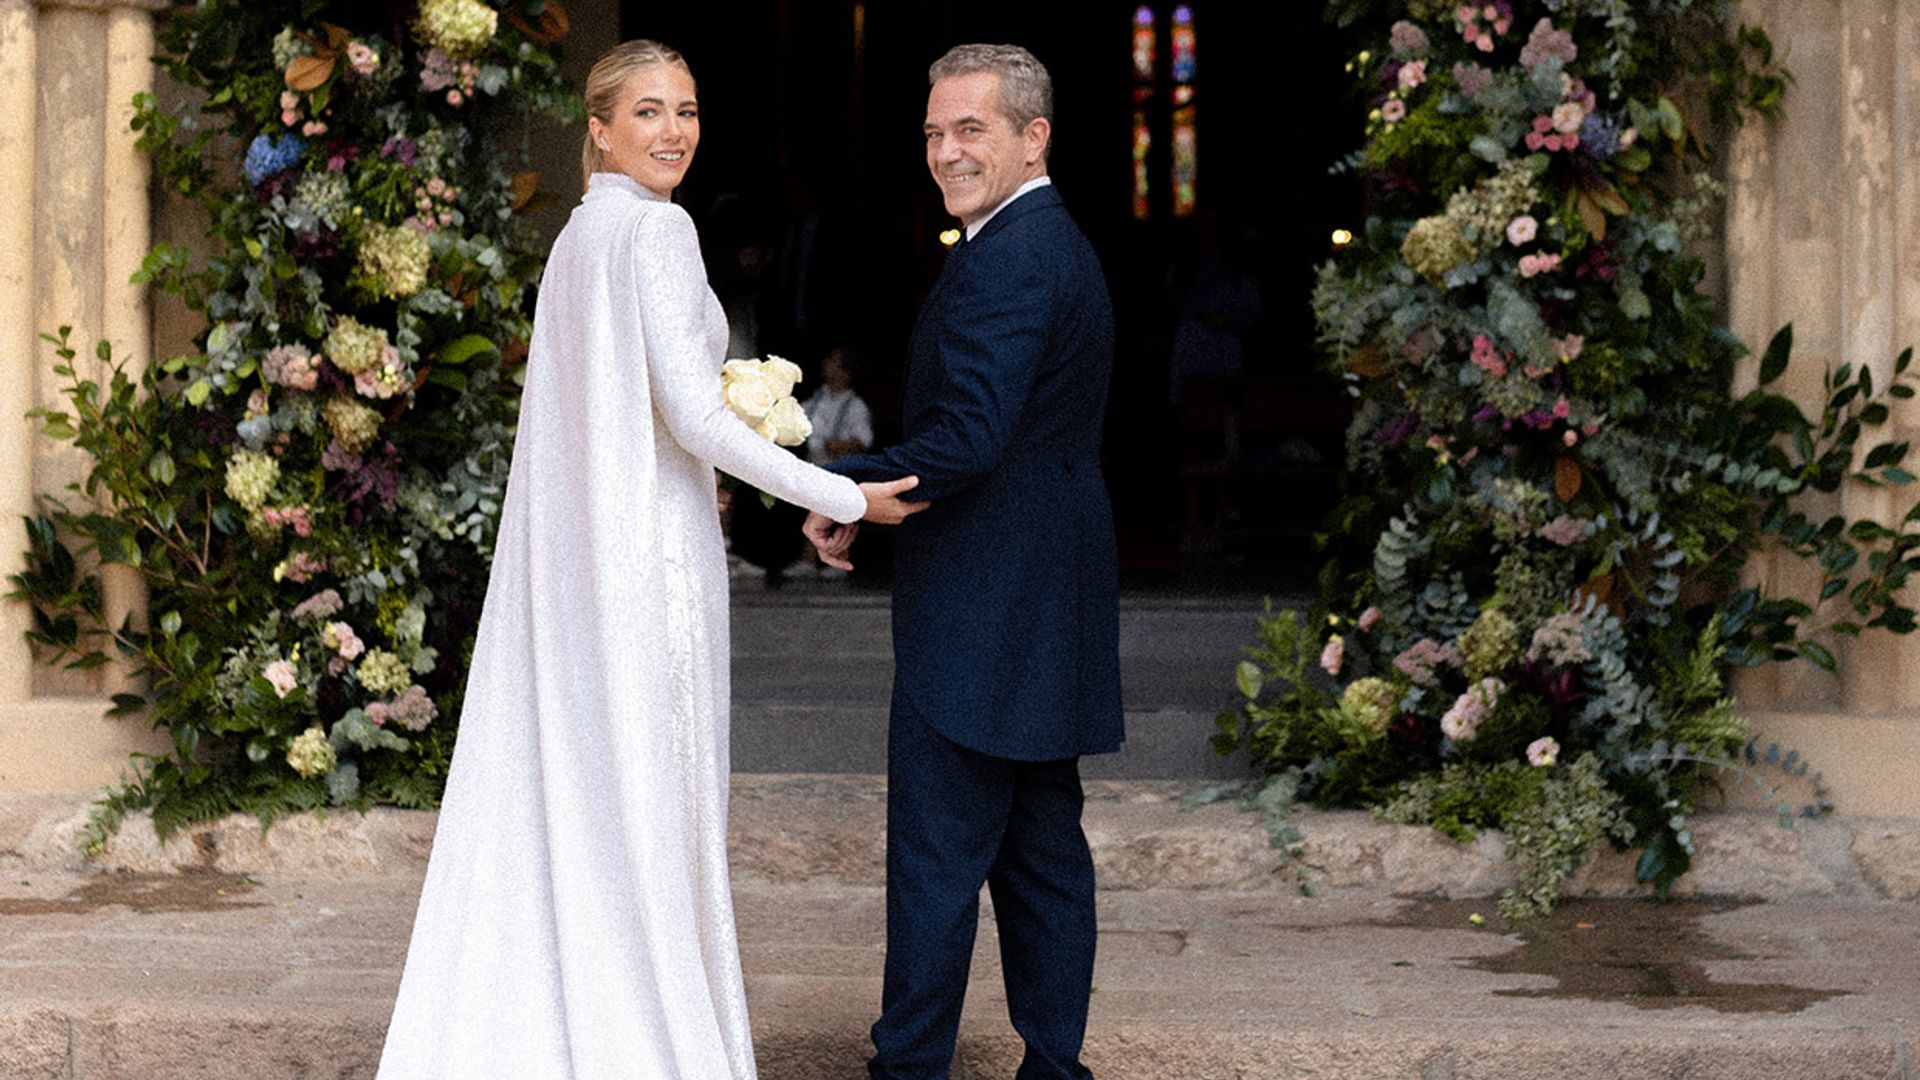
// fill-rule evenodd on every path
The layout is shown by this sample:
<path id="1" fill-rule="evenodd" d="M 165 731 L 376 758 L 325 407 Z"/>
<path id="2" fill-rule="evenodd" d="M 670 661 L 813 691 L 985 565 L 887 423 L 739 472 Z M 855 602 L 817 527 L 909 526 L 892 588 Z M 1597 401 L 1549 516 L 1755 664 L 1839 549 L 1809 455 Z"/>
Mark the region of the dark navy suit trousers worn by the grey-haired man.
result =
<path id="1" fill-rule="evenodd" d="M 968 749 L 895 701 L 887 732 L 887 965 L 876 1080 L 945 1080 L 960 1032 L 979 886 L 1000 930 L 1016 1080 L 1089 1080 L 1094 874 L 1079 759 Z"/>

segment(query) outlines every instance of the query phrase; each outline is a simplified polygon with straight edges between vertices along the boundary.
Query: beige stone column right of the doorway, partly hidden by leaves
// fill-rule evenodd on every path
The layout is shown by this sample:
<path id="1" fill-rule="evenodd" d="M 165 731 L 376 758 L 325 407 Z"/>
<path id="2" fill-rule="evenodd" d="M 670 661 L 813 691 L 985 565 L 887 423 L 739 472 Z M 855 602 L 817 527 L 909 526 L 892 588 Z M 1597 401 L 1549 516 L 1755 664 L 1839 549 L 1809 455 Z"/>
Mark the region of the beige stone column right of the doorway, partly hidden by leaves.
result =
<path id="1" fill-rule="evenodd" d="M 1816 415 L 1824 371 L 1866 367 L 1884 386 L 1901 348 L 1920 346 L 1920 0 L 1745 0 L 1741 17 L 1768 29 L 1795 85 L 1784 119 L 1749 121 L 1732 148 L 1728 317 L 1755 350 L 1793 323 L 1793 365 L 1776 388 Z M 1736 392 L 1753 384 L 1755 361 Z M 1914 404 L 1899 404 L 1868 446 L 1914 438 L 1916 421 Z M 1851 486 L 1809 500 L 1807 511 L 1899 528 L 1916 498 L 1916 488 Z M 1818 588 L 1818 571 L 1797 559 L 1764 559 L 1755 577 L 1809 600 Z M 1920 640 L 1822 640 L 1839 657 L 1837 678 L 1789 663 L 1740 680 L 1759 734 L 1809 757 L 1841 811 L 1920 817 L 1910 784 Z"/>

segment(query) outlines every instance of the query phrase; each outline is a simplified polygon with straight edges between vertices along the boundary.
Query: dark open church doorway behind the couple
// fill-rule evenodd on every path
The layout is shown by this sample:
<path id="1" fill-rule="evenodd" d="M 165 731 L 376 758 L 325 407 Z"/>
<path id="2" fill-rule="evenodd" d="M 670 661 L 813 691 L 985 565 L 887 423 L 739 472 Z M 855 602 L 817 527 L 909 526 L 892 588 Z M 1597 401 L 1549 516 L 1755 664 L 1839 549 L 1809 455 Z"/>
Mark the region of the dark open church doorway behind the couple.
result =
<path id="1" fill-rule="evenodd" d="M 1054 75 L 1050 173 L 1106 265 L 1119 331 L 1106 467 L 1129 584 L 1273 588 L 1311 563 L 1332 505 L 1344 398 L 1313 357 L 1313 267 L 1359 227 L 1329 165 L 1359 144 L 1350 52 L 1308 4 L 1144 4 L 1158 31 L 1150 206 L 1135 211 L 1139 2 L 718 0 L 624 4 L 622 37 L 680 48 L 703 142 L 680 200 L 716 288 L 755 292 L 756 346 L 814 369 L 858 352 L 881 438 L 902 348 L 952 221 L 927 181 L 927 63 L 956 42 L 1023 44 Z M 1196 37 L 1196 184 L 1175 211 L 1171 21 Z M 745 256 L 745 258 L 743 258 Z M 1171 400 L 1171 356 L 1208 259 L 1258 282 L 1242 373 Z M 745 304 L 745 300 L 737 300 Z"/>

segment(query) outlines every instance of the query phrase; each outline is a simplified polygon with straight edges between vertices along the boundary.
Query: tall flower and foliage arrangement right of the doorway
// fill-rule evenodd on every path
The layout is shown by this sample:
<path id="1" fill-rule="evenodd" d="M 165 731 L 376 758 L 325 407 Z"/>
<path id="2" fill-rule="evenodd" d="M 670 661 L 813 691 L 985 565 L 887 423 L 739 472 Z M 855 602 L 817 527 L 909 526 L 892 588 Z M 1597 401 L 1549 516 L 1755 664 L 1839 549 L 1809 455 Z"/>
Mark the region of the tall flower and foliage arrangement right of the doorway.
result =
<path id="1" fill-rule="evenodd" d="M 1549 907 L 1603 838 L 1665 890 L 1701 786 L 1761 761 L 1722 667 L 1830 669 L 1824 636 L 1914 625 L 1897 590 L 1920 538 L 1793 502 L 1912 480 L 1901 442 L 1855 454 L 1914 394 L 1910 354 L 1878 388 L 1828 373 L 1809 419 L 1766 390 L 1782 331 L 1730 400 L 1745 350 L 1697 254 L 1720 192 L 1707 121 L 1772 115 L 1789 79 L 1730 4 L 1329 15 L 1373 44 L 1348 67 L 1367 136 L 1342 163 L 1371 215 L 1313 292 L 1365 482 L 1329 523 L 1315 609 L 1263 619 L 1215 748 L 1323 803 L 1503 828 L 1509 915 Z M 1818 561 L 1818 598 L 1743 588 L 1766 544 Z"/>

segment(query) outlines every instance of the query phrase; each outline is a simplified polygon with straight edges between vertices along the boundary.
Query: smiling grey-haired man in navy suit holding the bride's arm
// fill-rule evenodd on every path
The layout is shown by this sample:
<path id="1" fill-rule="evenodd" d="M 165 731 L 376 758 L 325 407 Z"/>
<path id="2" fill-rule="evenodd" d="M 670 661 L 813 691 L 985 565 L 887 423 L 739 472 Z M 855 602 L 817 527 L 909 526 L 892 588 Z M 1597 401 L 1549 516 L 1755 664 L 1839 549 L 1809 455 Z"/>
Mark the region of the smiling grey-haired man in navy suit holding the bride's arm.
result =
<path id="1" fill-rule="evenodd" d="M 927 169 L 966 229 L 920 309 L 904 442 L 831 465 L 920 477 L 900 527 L 887 734 L 887 970 L 872 1076 L 945 1078 L 979 886 L 993 894 L 1018 1080 L 1087 1078 L 1094 876 L 1079 755 L 1121 744 L 1100 423 L 1114 311 L 1046 177 L 1052 81 L 1018 46 L 933 63 Z M 806 534 L 845 565 L 854 530 Z"/>

